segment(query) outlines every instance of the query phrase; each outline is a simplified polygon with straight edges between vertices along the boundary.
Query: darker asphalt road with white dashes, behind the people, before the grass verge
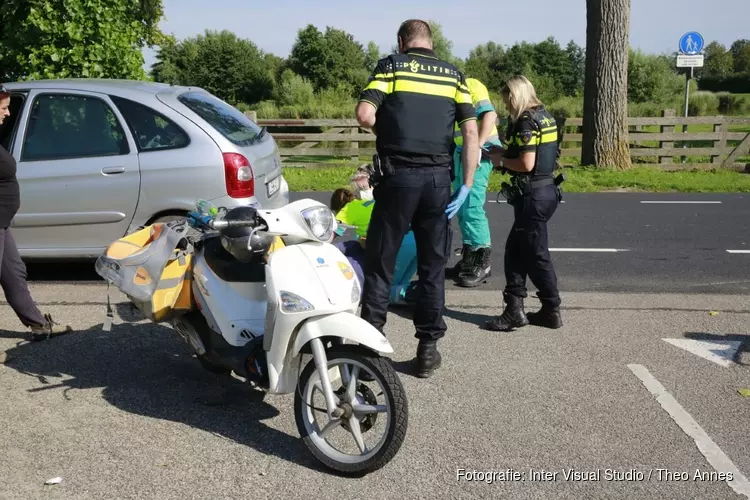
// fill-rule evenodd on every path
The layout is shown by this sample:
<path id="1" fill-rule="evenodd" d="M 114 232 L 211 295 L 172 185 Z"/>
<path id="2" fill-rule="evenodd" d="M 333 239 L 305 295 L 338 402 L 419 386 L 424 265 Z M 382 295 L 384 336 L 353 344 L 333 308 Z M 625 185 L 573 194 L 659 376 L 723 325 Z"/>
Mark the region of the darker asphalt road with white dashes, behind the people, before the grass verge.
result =
<path id="1" fill-rule="evenodd" d="M 330 193 L 292 193 L 328 203 Z M 503 249 L 512 209 L 488 195 L 492 277 L 505 284 Z M 501 198 L 501 201 L 504 201 Z M 460 250 L 457 221 L 454 248 Z M 743 194 L 565 194 L 549 225 L 561 290 L 569 292 L 719 293 L 750 291 L 750 196 Z M 730 253 L 729 251 L 748 252 Z M 451 263 L 458 260 L 453 256 Z M 99 281 L 93 263 L 34 264 L 29 280 Z M 455 287 L 453 283 L 450 287 Z M 531 287 L 533 290 L 533 287 Z"/>

